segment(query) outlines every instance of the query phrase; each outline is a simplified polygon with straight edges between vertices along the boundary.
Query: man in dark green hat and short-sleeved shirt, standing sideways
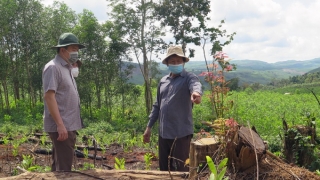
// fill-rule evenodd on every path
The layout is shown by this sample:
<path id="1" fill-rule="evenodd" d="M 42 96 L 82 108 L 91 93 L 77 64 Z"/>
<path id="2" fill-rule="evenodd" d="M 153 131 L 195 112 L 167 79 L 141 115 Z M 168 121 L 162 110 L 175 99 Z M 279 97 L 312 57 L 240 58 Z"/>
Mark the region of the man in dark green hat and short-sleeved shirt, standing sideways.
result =
<path id="1" fill-rule="evenodd" d="M 44 91 L 44 130 L 52 140 L 51 171 L 71 171 L 76 130 L 83 127 L 80 118 L 80 99 L 77 84 L 71 73 L 78 60 L 78 51 L 84 48 L 72 33 L 59 37 L 57 51 L 42 72 Z"/>

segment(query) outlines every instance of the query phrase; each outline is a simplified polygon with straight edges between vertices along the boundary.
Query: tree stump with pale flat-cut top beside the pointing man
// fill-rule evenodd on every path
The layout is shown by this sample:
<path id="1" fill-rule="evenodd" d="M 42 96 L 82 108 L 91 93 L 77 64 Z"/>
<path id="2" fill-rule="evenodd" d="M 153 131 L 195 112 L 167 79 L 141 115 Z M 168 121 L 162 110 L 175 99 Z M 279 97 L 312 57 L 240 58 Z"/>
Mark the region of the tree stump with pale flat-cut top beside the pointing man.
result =
<path id="1" fill-rule="evenodd" d="M 202 138 L 194 141 L 190 145 L 189 159 L 189 178 L 194 179 L 198 173 L 200 164 L 207 163 L 206 156 L 213 157 L 219 148 L 219 142 L 216 138 Z"/>

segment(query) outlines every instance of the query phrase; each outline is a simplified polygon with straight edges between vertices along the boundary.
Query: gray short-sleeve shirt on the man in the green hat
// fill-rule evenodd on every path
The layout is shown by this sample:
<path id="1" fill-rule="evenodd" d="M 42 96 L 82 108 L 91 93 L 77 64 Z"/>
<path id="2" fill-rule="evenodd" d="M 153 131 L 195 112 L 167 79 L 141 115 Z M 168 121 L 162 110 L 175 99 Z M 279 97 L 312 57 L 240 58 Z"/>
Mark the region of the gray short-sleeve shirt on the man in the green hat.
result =
<path id="1" fill-rule="evenodd" d="M 83 127 L 80 117 L 80 99 L 77 84 L 71 73 L 71 66 L 59 55 L 49 61 L 42 72 L 43 91 L 55 91 L 55 98 L 62 121 L 67 131 L 75 131 Z M 44 130 L 57 132 L 46 101 L 44 100 Z"/>

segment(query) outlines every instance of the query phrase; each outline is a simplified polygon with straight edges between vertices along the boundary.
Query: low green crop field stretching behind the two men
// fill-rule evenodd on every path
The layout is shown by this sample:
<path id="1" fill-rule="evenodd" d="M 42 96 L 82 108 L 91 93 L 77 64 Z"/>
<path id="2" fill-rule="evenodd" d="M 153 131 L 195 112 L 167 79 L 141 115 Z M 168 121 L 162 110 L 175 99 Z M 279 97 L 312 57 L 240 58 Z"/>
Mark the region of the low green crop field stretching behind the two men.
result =
<path id="1" fill-rule="evenodd" d="M 202 103 L 194 106 L 195 133 L 204 129 L 214 135 L 213 129 L 201 123 L 202 121 L 214 121 L 212 105 L 209 99 L 210 93 L 205 91 Z M 155 91 L 153 91 L 153 94 L 155 94 Z M 231 100 L 234 105 L 225 114 L 225 118 L 233 118 L 243 126 L 255 126 L 262 139 L 268 142 L 269 150 L 279 156 L 281 156 L 283 150 L 282 121 L 284 119 L 289 127 L 292 127 L 294 125 L 306 125 L 310 122 L 311 117 L 314 117 L 316 127 L 320 128 L 318 123 L 320 120 L 320 107 L 311 92 L 285 95 L 282 92 L 275 91 L 254 92 L 248 88 L 241 92 L 229 92 L 229 96 L 225 101 Z M 86 128 L 78 131 L 79 136 L 93 136 L 99 144 L 104 145 L 118 143 L 121 144 L 125 151 L 132 151 L 137 147 L 143 148 L 156 155 L 157 126 L 153 128 L 151 143 L 143 144 L 142 134 L 148 121 L 148 116 L 143 106 L 143 94 L 136 97 L 135 101 L 135 105 L 125 110 L 125 115 L 120 115 L 120 103 L 114 104 L 115 110 L 113 111 L 112 119 L 105 118 L 106 112 L 104 108 L 93 109 L 92 116 L 89 116 L 89 112 L 84 109 L 82 116 L 84 117 Z M 23 103 L 19 102 L 17 109 L 12 109 L 12 115 L 2 112 L 0 117 L 1 134 L 6 134 L 8 137 L 22 135 L 24 137 L 22 139 L 26 140 L 34 132 L 42 131 L 41 103 L 39 103 L 36 110 L 32 111 L 24 109 L 24 107 Z M 16 142 L 16 140 L 13 141 Z M 81 138 L 77 139 L 77 141 L 83 144 Z M 16 142 L 17 145 L 20 143 L 23 142 Z M 318 152 L 317 149 L 315 150 L 316 152 Z M 315 159 L 315 162 L 318 161 L 318 159 Z M 319 167 L 316 164 L 309 168 L 317 170 Z"/>

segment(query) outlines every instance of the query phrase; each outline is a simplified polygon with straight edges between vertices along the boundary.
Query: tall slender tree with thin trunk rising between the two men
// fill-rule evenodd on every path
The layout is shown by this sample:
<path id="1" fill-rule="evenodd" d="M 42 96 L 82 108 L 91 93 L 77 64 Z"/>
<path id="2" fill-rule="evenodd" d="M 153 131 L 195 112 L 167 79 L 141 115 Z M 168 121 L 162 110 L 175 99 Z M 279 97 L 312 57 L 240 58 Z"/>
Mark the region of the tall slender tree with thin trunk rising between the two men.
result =
<path id="1" fill-rule="evenodd" d="M 113 8 L 110 16 L 126 34 L 131 53 L 139 63 L 144 78 L 146 113 L 149 114 L 153 104 L 149 74 L 151 55 L 163 43 L 159 38 L 163 33 L 153 16 L 154 3 L 152 0 L 110 0 L 110 5 Z"/>

